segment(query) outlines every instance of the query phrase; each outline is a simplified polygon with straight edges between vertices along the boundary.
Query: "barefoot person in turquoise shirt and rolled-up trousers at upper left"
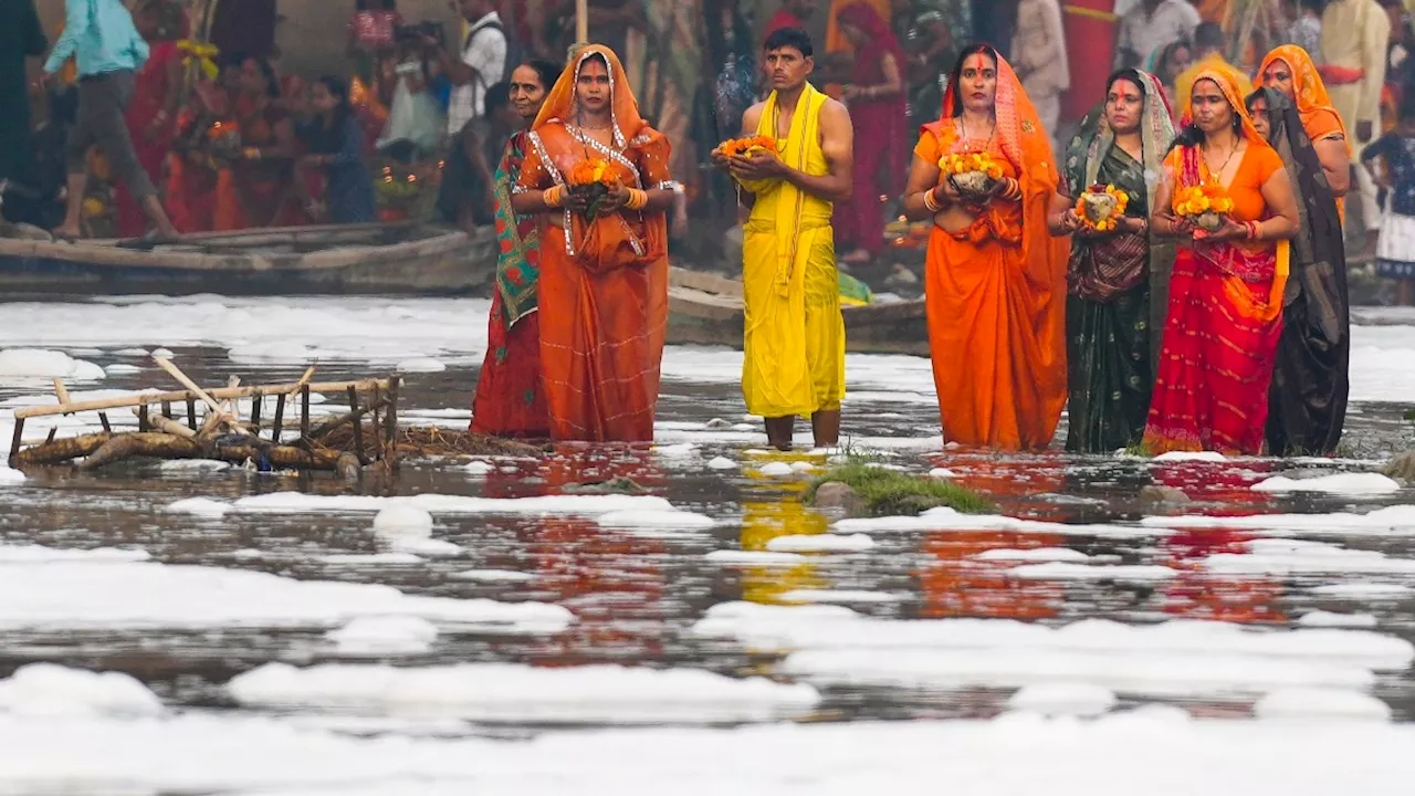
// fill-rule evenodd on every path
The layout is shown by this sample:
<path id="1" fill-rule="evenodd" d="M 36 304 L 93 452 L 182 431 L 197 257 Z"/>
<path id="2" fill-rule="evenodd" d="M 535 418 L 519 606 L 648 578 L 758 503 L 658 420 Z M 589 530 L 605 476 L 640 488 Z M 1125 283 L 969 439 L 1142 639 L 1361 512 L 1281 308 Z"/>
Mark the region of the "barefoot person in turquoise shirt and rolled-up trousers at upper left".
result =
<path id="1" fill-rule="evenodd" d="M 79 214 L 88 190 L 86 156 L 89 147 L 98 144 L 108 156 L 113 177 L 127 186 L 157 232 L 175 238 L 177 228 L 157 198 L 153 178 L 137 161 L 123 119 L 133 96 L 133 78 L 147 62 L 147 42 L 139 35 L 122 0 L 65 0 L 64 33 L 44 64 L 44 81 L 51 79 L 71 57 L 78 62 L 79 110 L 65 147 L 68 208 L 64 224 L 54 229 L 54 235 L 67 239 L 82 235 Z"/>

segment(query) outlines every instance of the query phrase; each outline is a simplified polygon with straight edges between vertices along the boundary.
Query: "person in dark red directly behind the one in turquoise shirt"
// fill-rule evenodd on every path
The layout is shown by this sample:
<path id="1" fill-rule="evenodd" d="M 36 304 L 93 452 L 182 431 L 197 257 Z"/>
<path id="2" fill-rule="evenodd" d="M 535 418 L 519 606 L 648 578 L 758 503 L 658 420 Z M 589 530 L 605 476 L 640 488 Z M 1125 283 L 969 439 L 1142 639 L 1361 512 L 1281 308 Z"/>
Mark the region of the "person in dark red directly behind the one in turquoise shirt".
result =
<path id="1" fill-rule="evenodd" d="M 177 3 L 147 0 L 133 14 L 133 23 L 147 41 L 150 55 L 133 78 L 133 99 L 127 103 L 125 118 L 137 161 L 147 170 L 153 184 L 160 186 L 163 160 L 173 149 L 177 106 L 181 102 L 183 55 L 177 50 L 177 40 L 184 35 L 187 18 Z M 180 224 L 175 225 L 181 229 Z M 127 186 L 119 183 L 117 234 L 136 238 L 146 231 L 147 215 L 133 201 Z"/>

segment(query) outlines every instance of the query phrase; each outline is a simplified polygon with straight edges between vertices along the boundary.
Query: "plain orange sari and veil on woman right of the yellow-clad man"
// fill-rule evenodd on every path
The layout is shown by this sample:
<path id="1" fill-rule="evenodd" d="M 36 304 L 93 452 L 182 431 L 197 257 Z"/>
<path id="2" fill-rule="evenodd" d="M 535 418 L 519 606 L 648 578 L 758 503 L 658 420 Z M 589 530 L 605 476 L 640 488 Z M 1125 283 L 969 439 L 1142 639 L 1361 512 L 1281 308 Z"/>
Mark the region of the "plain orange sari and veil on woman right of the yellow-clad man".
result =
<path id="1" fill-rule="evenodd" d="M 1067 398 L 1070 241 L 1053 238 L 1046 221 L 1060 176 L 1047 130 L 1017 74 L 990 47 L 969 47 L 961 59 L 979 52 L 998 65 L 992 146 L 1006 159 L 1005 171 L 1016 176 L 1022 198 L 993 203 L 968 231 L 935 225 L 931 232 L 925 297 L 934 381 L 947 439 L 1041 449 L 1050 445 Z M 954 120 L 962 103 L 957 81 L 949 84 L 941 118 L 923 127 L 918 157 L 959 152 Z M 978 235 L 979 227 L 992 231 Z M 995 364 L 978 364 L 979 357 L 993 356 Z"/>

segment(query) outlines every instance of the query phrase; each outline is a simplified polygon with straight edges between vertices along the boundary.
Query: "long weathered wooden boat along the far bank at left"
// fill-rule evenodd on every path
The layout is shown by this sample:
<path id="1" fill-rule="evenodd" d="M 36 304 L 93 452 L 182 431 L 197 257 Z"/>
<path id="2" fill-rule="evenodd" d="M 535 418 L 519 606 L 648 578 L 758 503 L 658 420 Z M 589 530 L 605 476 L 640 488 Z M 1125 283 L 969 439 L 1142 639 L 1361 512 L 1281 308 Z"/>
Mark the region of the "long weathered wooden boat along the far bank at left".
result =
<path id="1" fill-rule="evenodd" d="M 497 237 L 408 222 L 287 227 L 177 241 L 0 238 L 0 293 L 74 296 L 461 295 L 487 292 Z"/>

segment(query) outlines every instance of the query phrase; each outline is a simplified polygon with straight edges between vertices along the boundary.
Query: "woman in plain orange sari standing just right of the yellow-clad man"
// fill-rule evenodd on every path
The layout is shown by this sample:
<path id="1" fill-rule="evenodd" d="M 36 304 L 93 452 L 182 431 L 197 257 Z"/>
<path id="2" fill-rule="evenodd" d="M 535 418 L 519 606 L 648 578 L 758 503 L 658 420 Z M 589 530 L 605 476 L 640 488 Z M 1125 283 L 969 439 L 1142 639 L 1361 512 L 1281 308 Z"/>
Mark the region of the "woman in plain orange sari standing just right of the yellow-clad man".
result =
<path id="1" fill-rule="evenodd" d="M 1002 177 L 958 188 L 945 156 L 986 153 Z M 1012 67 L 988 45 L 964 51 L 944 116 L 924 126 L 904 210 L 932 220 L 925 297 L 944 438 L 1003 450 L 1051 443 L 1065 404 L 1070 242 L 1051 238 L 1057 167 Z"/>

